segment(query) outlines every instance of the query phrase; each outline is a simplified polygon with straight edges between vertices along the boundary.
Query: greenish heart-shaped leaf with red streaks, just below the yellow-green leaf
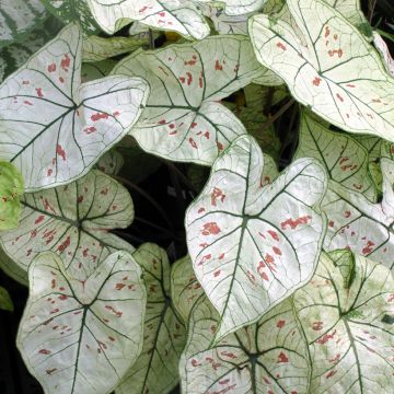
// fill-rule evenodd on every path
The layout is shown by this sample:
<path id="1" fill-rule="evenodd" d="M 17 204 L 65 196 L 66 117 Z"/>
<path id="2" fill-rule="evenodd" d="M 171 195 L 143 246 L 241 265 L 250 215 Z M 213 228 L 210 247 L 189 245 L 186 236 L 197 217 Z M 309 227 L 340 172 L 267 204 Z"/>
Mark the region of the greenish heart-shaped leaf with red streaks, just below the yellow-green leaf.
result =
<path id="1" fill-rule="evenodd" d="M 100 171 L 93 170 L 66 186 L 25 194 L 21 204 L 20 227 L 0 232 L 0 246 L 7 255 L 1 258 L 3 269 L 22 282 L 26 282 L 27 268 L 40 252 L 57 253 L 69 274 L 80 280 L 111 253 L 134 252 L 131 245 L 109 232 L 131 223 L 131 197 Z"/>

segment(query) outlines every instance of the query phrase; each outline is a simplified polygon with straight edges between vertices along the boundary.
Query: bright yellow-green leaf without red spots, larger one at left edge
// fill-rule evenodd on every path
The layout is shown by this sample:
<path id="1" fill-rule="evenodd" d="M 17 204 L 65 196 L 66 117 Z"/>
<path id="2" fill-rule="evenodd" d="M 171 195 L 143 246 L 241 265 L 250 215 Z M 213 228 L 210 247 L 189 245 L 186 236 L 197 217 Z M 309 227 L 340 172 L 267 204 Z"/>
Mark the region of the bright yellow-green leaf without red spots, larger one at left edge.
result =
<path id="1" fill-rule="evenodd" d="M 18 170 L 0 160 L 0 230 L 19 225 L 20 197 L 23 195 L 23 178 Z"/>

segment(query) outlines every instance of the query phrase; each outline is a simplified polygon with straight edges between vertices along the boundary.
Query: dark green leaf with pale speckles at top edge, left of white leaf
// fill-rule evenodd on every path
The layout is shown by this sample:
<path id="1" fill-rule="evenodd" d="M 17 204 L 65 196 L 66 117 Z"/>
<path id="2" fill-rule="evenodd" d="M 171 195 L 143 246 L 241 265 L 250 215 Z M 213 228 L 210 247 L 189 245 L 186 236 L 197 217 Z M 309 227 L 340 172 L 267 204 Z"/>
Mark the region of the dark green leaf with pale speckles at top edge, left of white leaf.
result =
<path id="1" fill-rule="evenodd" d="M 79 22 L 85 34 L 100 32 L 85 0 L 42 0 L 42 2 L 63 23 Z"/>

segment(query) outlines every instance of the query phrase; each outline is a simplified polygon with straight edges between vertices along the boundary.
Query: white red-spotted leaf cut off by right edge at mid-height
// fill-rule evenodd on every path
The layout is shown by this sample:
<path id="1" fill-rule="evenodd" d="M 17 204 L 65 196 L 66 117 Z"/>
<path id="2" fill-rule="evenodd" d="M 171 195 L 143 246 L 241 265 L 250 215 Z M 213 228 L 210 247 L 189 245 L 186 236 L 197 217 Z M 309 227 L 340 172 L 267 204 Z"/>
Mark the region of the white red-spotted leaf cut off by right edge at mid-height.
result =
<path id="1" fill-rule="evenodd" d="M 383 158 L 381 166 L 383 199 L 379 204 L 372 204 L 363 195 L 337 183 L 329 183 L 329 193 L 322 204 L 328 218 L 324 248 L 348 248 L 393 269 L 394 162 Z"/>

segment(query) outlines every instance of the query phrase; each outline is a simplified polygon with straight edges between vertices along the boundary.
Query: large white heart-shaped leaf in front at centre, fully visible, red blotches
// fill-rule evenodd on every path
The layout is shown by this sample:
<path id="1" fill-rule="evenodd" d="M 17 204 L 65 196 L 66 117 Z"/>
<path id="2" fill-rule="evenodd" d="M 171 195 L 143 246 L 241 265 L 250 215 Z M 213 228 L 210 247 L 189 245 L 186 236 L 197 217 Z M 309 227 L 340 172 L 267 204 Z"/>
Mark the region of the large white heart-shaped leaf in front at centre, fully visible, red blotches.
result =
<path id="1" fill-rule="evenodd" d="M 326 189 L 322 165 L 299 160 L 264 187 L 263 167 L 255 140 L 237 138 L 186 213 L 194 270 L 221 316 L 218 339 L 305 283 L 324 237 L 325 218 L 314 208 Z"/>

